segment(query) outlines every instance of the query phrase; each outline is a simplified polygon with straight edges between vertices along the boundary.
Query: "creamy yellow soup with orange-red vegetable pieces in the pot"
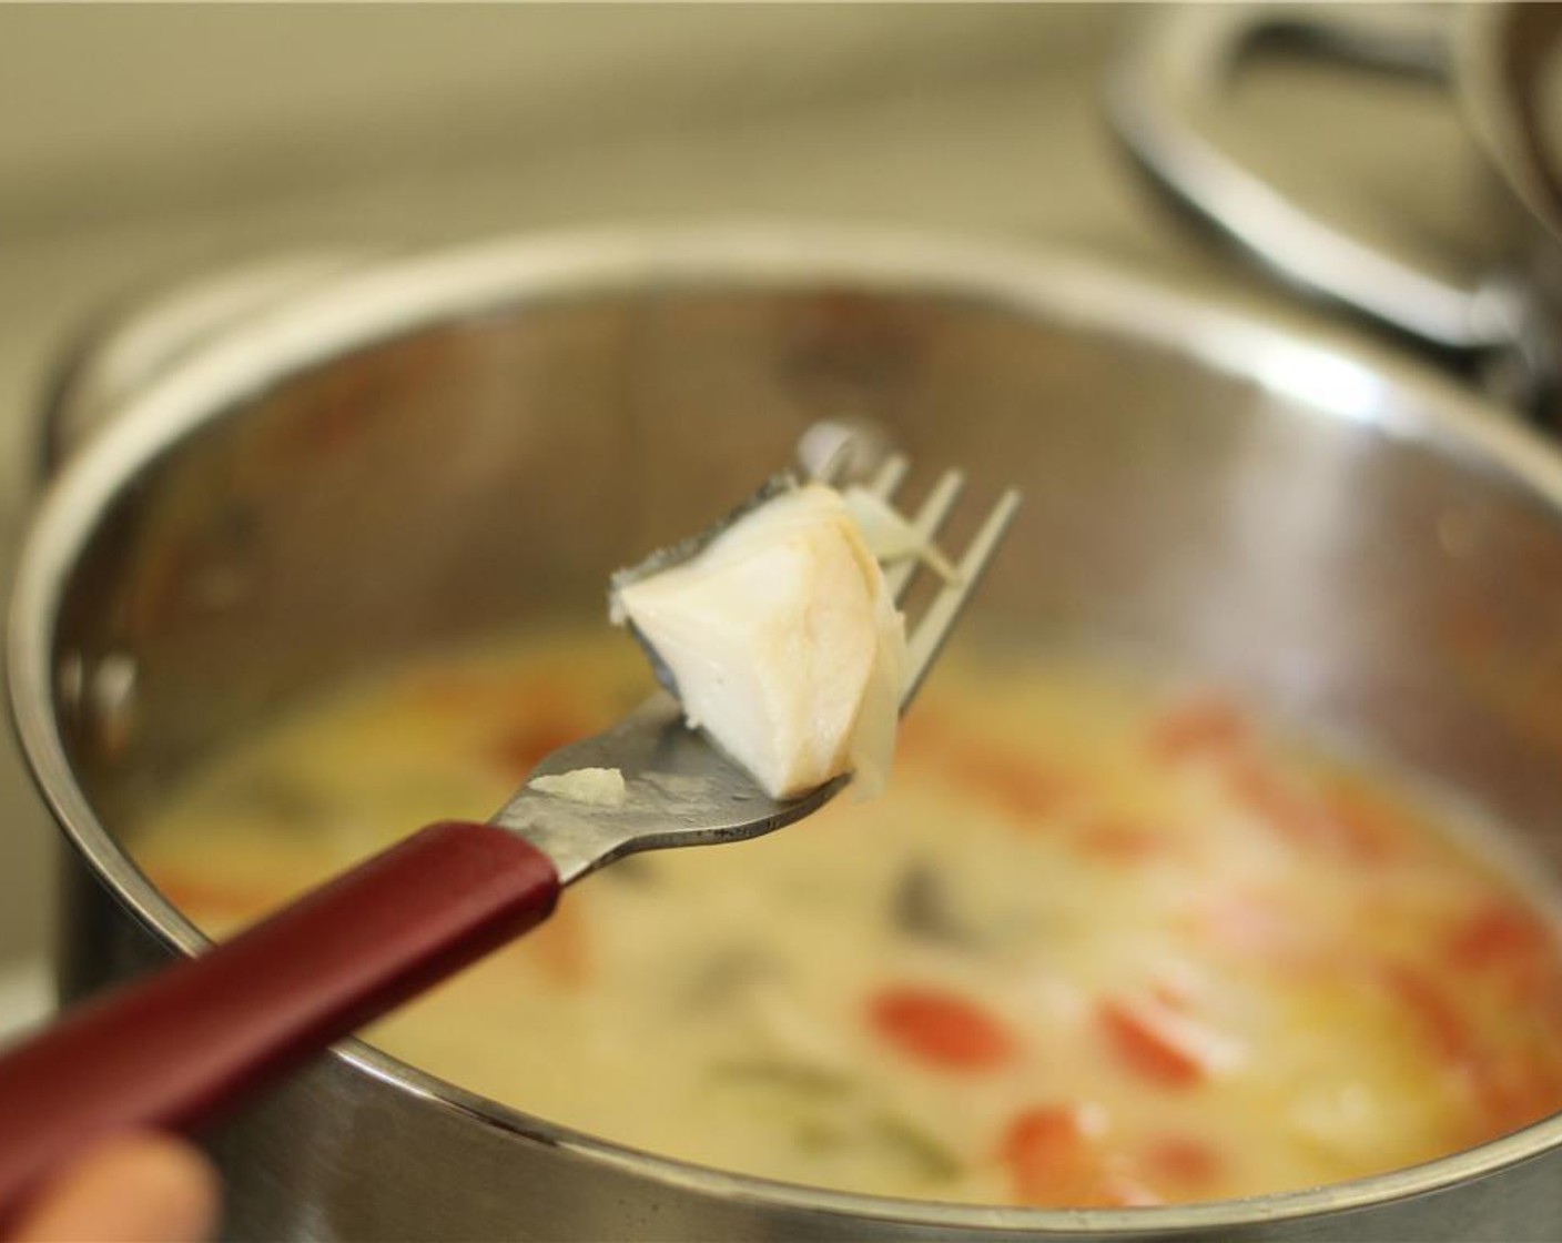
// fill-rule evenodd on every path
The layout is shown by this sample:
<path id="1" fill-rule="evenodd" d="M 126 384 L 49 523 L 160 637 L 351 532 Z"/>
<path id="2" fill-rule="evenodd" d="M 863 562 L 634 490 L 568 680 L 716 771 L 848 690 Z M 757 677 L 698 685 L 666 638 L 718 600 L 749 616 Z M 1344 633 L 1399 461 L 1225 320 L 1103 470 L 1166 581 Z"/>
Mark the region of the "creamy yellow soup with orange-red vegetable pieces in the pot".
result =
<path id="1" fill-rule="evenodd" d="M 487 816 L 647 686 L 612 633 L 409 664 L 222 755 L 139 858 L 220 937 L 425 821 Z M 956 655 L 878 799 L 619 863 L 367 1038 L 818 1187 L 1136 1205 L 1334 1182 L 1562 1105 L 1556 930 L 1467 821 L 1215 696 Z"/>

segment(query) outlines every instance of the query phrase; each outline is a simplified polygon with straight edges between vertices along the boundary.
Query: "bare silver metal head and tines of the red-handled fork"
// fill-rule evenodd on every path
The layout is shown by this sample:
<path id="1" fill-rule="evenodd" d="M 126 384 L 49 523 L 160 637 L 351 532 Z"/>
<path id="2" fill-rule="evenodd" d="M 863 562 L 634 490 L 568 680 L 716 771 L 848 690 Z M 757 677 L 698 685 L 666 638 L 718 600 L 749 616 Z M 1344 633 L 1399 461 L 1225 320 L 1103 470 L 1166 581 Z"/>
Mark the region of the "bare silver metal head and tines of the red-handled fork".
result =
<path id="1" fill-rule="evenodd" d="M 845 455 L 833 463 L 839 469 Z M 889 500 L 909 472 L 904 455 L 883 463 L 868 485 Z M 831 472 L 826 467 L 823 474 Z M 959 471 L 947 471 L 922 503 L 912 525 L 931 541 L 947 524 L 964 488 Z M 906 650 L 909 675 L 901 711 L 922 686 L 972 593 L 981 582 L 1018 508 L 1018 493 L 998 497 L 981 528 L 956 563 L 956 574 L 909 627 Z M 884 571 L 897 604 L 903 604 L 917 579 L 918 561 L 898 561 Z M 539 793 L 523 785 L 494 816 L 553 860 L 561 883 L 639 851 L 669 846 L 704 846 L 761 836 L 808 816 L 829 802 L 850 776 L 797 799 L 772 799 L 748 772 L 712 746 L 704 735 L 683 724 L 678 702 L 658 691 L 612 727 L 548 755 L 533 777 L 580 768 L 617 768 L 625 780 L 625 801 L 617 807 L 587 807 Z"/>

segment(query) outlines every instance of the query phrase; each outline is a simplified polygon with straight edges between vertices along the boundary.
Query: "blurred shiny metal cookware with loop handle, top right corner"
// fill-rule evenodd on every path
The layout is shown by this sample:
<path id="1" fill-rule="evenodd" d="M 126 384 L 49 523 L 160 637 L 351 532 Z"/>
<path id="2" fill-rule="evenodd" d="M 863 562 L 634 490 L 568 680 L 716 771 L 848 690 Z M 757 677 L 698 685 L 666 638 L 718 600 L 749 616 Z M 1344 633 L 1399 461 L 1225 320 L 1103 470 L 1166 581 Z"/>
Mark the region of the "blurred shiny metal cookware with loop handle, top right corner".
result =
<path id="1" fill-rule="evenodd" d="M 1496 194 L 1507 245 L 1459 281 L 1331 225 L 1211 134 L 1239 67 L 1273 42 L 1442 83 Z M 1504 402 L 1562 424 L 1562 8 L 1556 5 L 1184 5 L 1117 67 L 1111 116 L 1182 206 L 1289 283 L 1460 364 Z"/>

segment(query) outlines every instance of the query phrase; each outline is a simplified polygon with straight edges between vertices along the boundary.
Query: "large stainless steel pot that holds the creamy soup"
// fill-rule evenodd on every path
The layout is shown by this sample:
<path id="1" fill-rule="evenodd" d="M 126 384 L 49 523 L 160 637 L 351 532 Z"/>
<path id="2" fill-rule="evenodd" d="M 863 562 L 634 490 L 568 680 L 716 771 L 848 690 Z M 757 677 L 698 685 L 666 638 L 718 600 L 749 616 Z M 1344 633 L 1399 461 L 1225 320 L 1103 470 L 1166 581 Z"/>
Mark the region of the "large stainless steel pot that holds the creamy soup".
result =
<path id="1" fill-rule="evenodd" d="M 370 264 L 108 407 L 9 630 L 75 847 L 69 996 L 201 947 L 125 841 L 212 747 L 364 666 L 597 611 L 822 416 L 1026 488 L 965 641 L 1198 669 L 1562 865 L 1562 463 L 1389 353 L 1057 260 L 703 228 Z M 975 1209 L 626 1151 L 350 1041 L 212 1143 L 234 1238 L 1562 1237 L 1562 1118 L 1286 1196 Z"/>

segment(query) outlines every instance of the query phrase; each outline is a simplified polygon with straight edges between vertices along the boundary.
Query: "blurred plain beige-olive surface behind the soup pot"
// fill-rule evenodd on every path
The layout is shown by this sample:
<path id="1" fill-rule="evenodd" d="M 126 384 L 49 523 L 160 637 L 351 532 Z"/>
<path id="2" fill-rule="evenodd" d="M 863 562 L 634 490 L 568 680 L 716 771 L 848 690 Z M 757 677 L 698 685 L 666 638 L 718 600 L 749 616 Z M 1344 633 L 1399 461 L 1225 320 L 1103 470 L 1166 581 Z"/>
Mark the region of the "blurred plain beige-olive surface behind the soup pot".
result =
<path id="1" fill-rule="evenodd" d="M 0 6 L 0 519 L 112 302 L 267 255 L 604 220 L 884 222 L 1300 308 L 1170 214 L 1101 88 L 1161 6 Z M 1409 252 L 1484 238 L 1435 91 L 1257 61 L 1221 142 Z M 0 746 L 0 1029 L 45 996 L 53 830 Z"/>

